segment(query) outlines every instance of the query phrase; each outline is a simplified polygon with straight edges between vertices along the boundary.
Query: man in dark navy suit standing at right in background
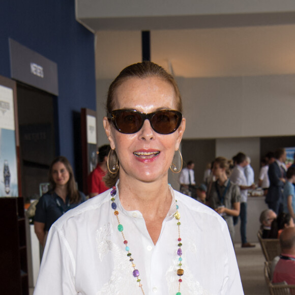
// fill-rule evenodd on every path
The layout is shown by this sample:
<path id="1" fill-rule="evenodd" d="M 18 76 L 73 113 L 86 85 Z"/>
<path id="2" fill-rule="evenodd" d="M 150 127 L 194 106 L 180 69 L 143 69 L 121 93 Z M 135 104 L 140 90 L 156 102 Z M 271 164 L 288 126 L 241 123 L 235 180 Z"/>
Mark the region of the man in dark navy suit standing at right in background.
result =
<path id="1" fill-rule="evenodd" d="M 275 158 L 275 162 L 269 166 L 270 187 L 265 197 L 265 203 L 268 204 L 269 209 L 272 209 L 278 215 L 283 211 L 282 190 L 286 182 L 286 151 L 284 149 L 277 149 L 275 151 Z"/>

